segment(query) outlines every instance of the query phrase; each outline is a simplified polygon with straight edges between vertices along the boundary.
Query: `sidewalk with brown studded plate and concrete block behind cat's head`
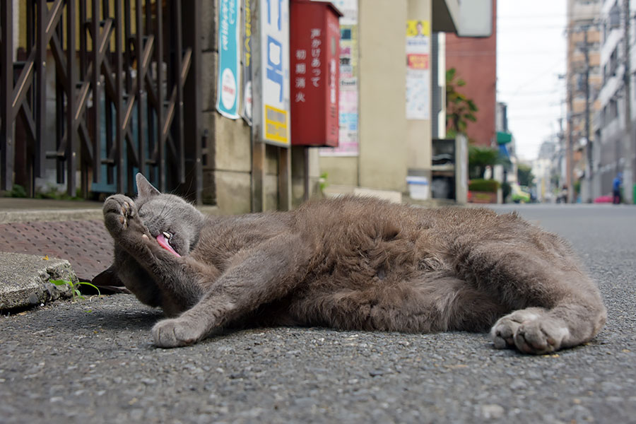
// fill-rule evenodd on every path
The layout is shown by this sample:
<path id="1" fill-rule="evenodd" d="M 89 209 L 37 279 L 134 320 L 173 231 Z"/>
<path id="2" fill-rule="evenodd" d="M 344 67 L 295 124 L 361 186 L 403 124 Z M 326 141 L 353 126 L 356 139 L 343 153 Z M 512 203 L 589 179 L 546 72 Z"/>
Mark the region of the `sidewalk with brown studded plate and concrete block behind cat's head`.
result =
<path id="1" fill-rule="evenodd" d="M 92 281 L 111 263 L 101 202 L 0 198 L 0 311 L 70 295 L 49 281 Z"/>

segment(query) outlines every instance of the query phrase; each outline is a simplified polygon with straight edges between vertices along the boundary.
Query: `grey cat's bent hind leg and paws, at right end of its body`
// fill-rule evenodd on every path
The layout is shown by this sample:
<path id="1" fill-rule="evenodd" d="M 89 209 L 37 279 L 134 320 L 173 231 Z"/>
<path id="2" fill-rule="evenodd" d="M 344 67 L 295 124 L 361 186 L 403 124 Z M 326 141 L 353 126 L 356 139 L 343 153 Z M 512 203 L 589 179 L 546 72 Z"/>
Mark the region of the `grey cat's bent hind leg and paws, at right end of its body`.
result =
<path id="1" fill-rule="evenodd" d="M 550 353 L 590 341 L 605 324 L 596 284 L 558 237 L 481 241 L 464 252 L 458 273 L 513 310 L 490 331 L 495 348 Z"/>

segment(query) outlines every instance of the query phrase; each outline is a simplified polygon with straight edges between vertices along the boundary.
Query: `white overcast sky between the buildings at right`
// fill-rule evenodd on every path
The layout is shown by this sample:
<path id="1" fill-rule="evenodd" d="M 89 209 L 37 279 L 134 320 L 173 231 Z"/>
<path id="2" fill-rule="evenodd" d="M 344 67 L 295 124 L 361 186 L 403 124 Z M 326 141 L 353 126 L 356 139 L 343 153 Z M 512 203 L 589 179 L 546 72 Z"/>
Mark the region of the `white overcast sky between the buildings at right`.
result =
<path id="1" fill-rule="evenodd" d="M 497 102 L 517 156 L 534 159 L 565 117 L 567 0 L 497 0 Z M 564 121 L 565 127 L 565 121 Z"/>

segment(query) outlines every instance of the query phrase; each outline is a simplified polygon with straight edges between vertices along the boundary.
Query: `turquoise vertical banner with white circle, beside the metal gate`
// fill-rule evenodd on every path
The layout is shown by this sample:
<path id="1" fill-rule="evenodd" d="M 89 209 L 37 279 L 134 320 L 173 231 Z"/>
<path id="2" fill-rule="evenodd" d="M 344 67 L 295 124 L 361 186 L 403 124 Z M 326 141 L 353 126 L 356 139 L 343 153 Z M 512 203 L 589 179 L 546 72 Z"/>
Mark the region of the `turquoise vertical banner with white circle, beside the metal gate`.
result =
<path id="1" fill-rule="evenodd" d="M 224 117 L 238 119 L 239 103 L 239 23 L 238 0 L 220 0 L 218 13 L 218 83 L 216 110 Z"/>

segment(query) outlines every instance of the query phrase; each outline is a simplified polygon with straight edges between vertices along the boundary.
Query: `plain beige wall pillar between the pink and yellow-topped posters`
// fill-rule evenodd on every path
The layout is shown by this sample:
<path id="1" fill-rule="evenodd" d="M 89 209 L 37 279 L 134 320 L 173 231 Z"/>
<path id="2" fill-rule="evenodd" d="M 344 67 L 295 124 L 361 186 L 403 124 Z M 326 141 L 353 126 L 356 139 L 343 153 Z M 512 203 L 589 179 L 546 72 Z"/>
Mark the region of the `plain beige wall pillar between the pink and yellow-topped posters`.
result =
<path id="1" fill-rule="evenodd" d="M 406 190 L 407 3 L 359 3 L 361 187 Z"/>

